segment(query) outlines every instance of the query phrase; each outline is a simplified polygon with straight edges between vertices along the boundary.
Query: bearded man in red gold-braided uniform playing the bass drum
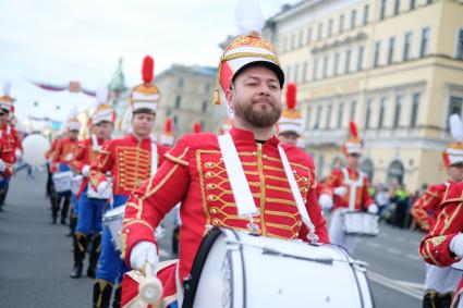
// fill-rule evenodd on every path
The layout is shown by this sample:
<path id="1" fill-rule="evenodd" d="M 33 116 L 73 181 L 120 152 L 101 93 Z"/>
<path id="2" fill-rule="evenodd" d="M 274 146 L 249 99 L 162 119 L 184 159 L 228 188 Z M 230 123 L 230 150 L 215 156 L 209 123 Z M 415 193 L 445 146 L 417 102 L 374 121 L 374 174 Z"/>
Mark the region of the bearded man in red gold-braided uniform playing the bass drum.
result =
<path id="1" fill-rule="evenodd" d="M 280 152 L 280 143 L 273 135 L 281 115 L 284 84 L 279 63 L 273 48 L 258 32 L 247 29 L 246 35 L 234 39 L 220 60 L 218 72 L 218 82 L 234 112 L 234 127 L 219 137 L 221 146 L 211 133 L 183 136 L 166 155 L 156 175 L 126 204 L 122 252 L 133 269 L 142 270 L 146 262 L 158 268 L 165 287 L 159 307 L 181 307 L 182 291 L 176 293 L 175 272 L 178 285 L 182 285 L 188 279 L 204 235 L 212 226 L 277 238 L 329 242 L 314 190 L 317 181 L 310 157 L 288 145 L 282 145 Z M 218 88 L 215 102 L 219 102 Z M 235 158 L 233 162 L 228 153 Z M 287 170 L 283 155 L 289 160 Z M 247 192 L 248 202 L 241 202 L 241 197 L 246 198 L 243 189 L 232 189 L 236 181 L 230 173 L 236 170 L 244 170 L 242 183 L 247 187 L 243 189 Z M 294 184 L 294 192 L 290 183 Z M 235 201 L 236 197 L 240 201 Z M 154 230 L 180 201 L 179 262 L 165 267 L 158 264 Z M 303 214 L 307 214 L 305 222 L 310 230 L 303 223 Z M 137 294 L 134 279 L 134 275 L 124 276 L 122 307 Z"/>

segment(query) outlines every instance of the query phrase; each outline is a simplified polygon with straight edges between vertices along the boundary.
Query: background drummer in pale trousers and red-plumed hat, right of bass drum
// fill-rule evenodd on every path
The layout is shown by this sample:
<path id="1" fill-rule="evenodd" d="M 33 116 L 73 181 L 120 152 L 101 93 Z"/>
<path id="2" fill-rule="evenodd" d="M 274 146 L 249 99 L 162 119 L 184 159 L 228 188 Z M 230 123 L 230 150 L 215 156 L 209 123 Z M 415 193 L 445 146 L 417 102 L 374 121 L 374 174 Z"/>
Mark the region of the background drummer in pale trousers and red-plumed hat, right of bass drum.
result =
<path id="1" fill-rule="evenodd" d="M 350 123 L 350 138 L 342 146 L 345 168 L 333 170 L 324 182 L 319 202 L 325 210 L 333 208 L 329 226 L 331 243 L 352 254 L 355 236 L 344 234 L 342 213 L 348 210 L 363 210 L 376 214 L 378 207 L 368 194 L 368 176 L 358 169 L 363 143 L 354 122 Z"/>

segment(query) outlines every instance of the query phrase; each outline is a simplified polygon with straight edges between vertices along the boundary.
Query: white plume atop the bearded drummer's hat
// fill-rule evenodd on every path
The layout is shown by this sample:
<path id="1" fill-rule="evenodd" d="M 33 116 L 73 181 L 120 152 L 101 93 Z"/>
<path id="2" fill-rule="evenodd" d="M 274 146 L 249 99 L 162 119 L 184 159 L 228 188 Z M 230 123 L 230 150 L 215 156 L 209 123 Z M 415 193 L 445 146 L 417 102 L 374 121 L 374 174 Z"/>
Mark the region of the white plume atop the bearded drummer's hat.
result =
<path id="1" fill-rule="evenodd" d="M 235 23 L 240 35 L 248 35 L 253 30 L 260 33 L 265 19 L 259 3 L 255 0 L 239 0 L 235 8 Z"/>

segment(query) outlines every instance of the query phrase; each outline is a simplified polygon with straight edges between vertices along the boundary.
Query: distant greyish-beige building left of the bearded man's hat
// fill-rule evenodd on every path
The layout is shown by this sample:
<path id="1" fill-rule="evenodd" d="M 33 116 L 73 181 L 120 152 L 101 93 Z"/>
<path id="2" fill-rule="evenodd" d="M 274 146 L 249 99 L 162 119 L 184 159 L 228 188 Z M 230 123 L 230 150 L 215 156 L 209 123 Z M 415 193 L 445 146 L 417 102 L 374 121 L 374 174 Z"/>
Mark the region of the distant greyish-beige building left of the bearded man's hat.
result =
<path id="1" fill-rule="evenodd" d="M 173 120 L 178 138 L 192 133 L 195 122 L 202 124 L 203 132 L 217 133 L 226 119 L 227 109 L 211 102 L 216 76 L 216 67 L 197 65 L 172 65 L 156 76 L 155 84 L 161 93 L 156 119 L 157 134 L 162 132 L 168 116 Z"/>

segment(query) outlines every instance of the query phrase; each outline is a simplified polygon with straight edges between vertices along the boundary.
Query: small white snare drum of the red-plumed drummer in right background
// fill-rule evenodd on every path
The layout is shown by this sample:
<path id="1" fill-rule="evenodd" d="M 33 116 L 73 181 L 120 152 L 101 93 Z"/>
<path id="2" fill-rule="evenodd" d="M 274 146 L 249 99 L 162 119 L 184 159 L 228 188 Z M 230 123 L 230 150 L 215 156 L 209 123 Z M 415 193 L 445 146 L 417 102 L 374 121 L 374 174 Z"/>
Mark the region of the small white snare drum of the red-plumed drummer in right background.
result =
<path id="1" fill-rule="evenodd" d="M 378 215 L 361 211 L 342 213 L 344 233 L 357 236 L 376 236 L 379 233 Z"/>

